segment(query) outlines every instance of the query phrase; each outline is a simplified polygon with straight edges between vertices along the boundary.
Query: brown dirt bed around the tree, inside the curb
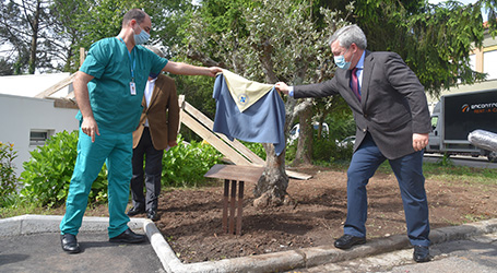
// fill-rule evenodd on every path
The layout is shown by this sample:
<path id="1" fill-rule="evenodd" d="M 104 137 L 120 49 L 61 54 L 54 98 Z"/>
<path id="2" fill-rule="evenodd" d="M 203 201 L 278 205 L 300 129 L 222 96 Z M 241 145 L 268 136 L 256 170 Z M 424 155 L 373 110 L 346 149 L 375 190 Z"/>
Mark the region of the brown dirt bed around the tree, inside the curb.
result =
<path id="1" fill-rule="evenodd" d="M 253 185 L 246 183 L 241 236 L 222 232 L 222 181 L 212 187 L 164 191 L 156 225 L 182 262 L 212 261 L 331 245 L 346 216 L 346 174 L 298 169 L 310 180 L 291 179 L 296 205 L 256 210 Z M 497 185 L 426 180 L 431 229 L 497 216 Z M 368 185 L 367 238 L 405 234 L 397 179 L 376 174 Z M 144 216 L 144 215 L 138 215 Z"/>

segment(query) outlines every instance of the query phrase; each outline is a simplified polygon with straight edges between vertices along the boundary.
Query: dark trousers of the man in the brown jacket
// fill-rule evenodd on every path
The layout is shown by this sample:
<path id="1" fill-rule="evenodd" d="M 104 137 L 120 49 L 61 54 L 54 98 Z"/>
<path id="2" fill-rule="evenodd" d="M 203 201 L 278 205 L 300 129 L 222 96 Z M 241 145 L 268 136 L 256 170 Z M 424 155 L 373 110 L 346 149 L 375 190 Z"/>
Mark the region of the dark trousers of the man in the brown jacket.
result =
<path id="1" fill-rule="evenodd" d="M 146 211 L 157 210 L 158 194 L 161 194 L 163 155 L 164 150 L 155 150 L 149 127 L 145 127 L 139 144 L 133 149 L 131 197 L 135 207 L 145 209 Z M 143 157 L 145 157 L 145 171 L 143 171 Z M 146 187 L 146 199 L 143 194 L 143 182 Z"/>

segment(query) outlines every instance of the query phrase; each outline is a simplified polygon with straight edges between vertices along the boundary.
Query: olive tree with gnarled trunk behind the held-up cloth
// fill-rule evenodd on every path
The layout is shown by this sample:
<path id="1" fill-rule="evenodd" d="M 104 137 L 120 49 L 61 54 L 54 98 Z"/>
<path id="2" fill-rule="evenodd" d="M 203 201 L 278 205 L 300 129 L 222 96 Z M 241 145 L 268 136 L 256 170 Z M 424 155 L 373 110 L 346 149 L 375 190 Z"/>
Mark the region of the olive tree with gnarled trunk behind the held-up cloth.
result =
<path id="1" fill-rule="evenodd" d="M 203 1 L 202 4 L 209 7 L 209 2 L 211 1 Z M 215 9 L 222 9 L 220 5 L 215 5 Z M 229 11 L 229 8 L 234 10 Z M 329 63 L 327 37 L 330 31 L 347 22 L 346 14 L 321 9 L 328 27 L 319 29 L 311 16 L 311 8 L 308 2 L 292 0 L 241 0 L 224 11 L 216 10 L 217 15 L 233 16 L 233 21 L 224 19 L 224 25 L 212 17 L 202 16 L 201 12 L 193 13 L 185 51 L 189 58 L 205 66 L 221 66 L 258 82 L 316 82 L 323 75 L 332 75 L 334 66 Z M 212 12 L 209 14 L 212 15 Z M 218 25 L 212 27 L 208 22 Z M 309 111 L 312 102 L 289 97 L 285 99 L 286 135 L 294 119 L 300 112 Z M 285 153 L 276 156 L 272 144 L 264 144 L 264 149 L 265 169 L 255 189 L 258 198 L 256 204 L 279 205 L 287 198 Z"/>

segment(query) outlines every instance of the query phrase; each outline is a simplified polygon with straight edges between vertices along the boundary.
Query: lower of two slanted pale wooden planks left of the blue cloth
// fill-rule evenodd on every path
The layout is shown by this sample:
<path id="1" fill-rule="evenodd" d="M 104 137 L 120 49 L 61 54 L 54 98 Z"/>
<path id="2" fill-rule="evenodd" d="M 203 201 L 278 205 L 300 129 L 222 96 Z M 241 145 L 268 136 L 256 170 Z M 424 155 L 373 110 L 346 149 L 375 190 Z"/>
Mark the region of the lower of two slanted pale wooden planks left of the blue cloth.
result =
<path id="1" fill-rule="evenodd" d="M 200 124 L 194 120 L 190 115 L 184 112 L 181 115 L 181 122 L 185 123 L 188 128 L 193 130 L 202 139 L 213 145 L 217 151 L 232 159 L 236 165 L 250 165 L 250 162 L 247 161 L 244 156 L 236 153 L 228 144 L 220 140 L 215 134 L 209 131 L 205 127 Z"/>

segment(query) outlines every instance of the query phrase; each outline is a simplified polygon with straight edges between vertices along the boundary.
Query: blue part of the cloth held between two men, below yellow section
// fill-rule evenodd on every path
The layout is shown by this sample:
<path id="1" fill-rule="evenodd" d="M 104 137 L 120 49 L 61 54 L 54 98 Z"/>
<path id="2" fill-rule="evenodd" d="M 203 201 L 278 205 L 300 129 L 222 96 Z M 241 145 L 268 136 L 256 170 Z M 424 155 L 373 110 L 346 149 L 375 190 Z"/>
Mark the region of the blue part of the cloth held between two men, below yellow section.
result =
<path id="1" fill-rule="evenodd" d="M 214 83 L 213 97 L 216 99 L 214 132 L 223 133 L 229 140 L 273 143 L 276 155 L 283 152 L 285 149 L 285 104 L 274 87 L 244 112 L 240 112 L 223 74 L 218 74 Z"/>

